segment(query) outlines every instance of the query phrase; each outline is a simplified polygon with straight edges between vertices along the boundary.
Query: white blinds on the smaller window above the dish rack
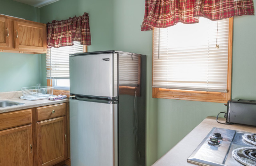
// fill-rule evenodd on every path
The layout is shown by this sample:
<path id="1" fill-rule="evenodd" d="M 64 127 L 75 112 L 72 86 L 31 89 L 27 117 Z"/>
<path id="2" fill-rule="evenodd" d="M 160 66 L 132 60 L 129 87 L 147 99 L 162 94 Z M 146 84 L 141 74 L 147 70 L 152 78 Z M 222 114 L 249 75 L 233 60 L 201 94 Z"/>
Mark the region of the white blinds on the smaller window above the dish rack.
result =
<path id="1" fill-rule="evenodd" d="M 74 41 L 73 46 L 47 49 L 46 79 L 69 79 L 69 54 L 83 52 L 83 45 Z"/>

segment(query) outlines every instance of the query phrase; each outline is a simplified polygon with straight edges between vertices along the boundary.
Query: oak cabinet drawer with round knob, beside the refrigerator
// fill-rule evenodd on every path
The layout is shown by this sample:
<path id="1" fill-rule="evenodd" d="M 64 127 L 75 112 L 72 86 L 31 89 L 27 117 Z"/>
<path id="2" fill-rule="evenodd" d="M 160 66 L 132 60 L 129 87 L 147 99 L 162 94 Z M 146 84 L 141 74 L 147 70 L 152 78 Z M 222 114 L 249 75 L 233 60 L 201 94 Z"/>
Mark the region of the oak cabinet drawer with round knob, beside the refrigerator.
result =
<path id="1" fill-rule="evenodd" d="M 52 119 L 66 115 L 66 103 L 36 108 L 36 121 Z"/>

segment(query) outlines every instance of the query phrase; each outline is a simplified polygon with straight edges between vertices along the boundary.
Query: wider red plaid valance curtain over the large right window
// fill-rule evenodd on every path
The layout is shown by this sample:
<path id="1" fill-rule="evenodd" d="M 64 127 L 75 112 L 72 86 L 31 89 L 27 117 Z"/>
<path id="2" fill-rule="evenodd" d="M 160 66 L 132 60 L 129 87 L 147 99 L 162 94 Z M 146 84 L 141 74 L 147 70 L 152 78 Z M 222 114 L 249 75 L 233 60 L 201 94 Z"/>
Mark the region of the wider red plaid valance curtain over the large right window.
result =
<path id="1" fill-rule="evenodd" d="M 254 15 L 253 0 L 146 0 L 141 31 L 242 15 Z"/>

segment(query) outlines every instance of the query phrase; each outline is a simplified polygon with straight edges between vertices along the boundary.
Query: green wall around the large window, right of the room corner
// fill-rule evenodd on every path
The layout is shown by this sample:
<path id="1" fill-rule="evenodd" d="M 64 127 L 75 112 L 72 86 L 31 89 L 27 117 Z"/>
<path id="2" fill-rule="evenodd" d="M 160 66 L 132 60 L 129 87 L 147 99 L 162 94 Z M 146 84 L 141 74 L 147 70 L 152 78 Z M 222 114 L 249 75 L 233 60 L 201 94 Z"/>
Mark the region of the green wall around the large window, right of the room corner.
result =
<path id="1" fill-rule="evenodd" d="M 254 1 L 255 3 L 255 1 Z M 140 32 L 145 1 L 114 0 L 114 49 L 148 55 L 148 165 L 170 150 L 205 117 L 226 111 L 223 103 L 152 98 L 152 31 Z M 256 100 L 256 16 L 234 18 L 232 98 Z M 225 128 L 225 125 L 223 125 Z"/>

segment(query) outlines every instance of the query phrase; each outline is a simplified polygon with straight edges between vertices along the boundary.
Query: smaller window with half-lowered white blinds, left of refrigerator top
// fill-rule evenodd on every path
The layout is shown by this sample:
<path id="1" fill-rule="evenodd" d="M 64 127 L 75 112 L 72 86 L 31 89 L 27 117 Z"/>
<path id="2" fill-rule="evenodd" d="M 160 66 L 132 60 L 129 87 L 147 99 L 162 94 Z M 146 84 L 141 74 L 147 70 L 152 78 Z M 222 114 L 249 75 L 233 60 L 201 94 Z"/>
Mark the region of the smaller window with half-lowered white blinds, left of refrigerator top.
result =
<path id="1" fill-rule="evenodd" d="M 47 49 L 46 78 L 47 86 L 54 87 L 54 91 L 69 91 L 69 54 L 81 53 L 86 46 L 75 41 L 73 46 Z"/>

